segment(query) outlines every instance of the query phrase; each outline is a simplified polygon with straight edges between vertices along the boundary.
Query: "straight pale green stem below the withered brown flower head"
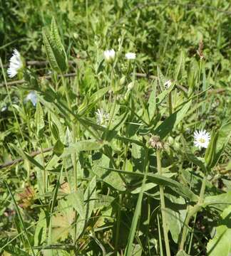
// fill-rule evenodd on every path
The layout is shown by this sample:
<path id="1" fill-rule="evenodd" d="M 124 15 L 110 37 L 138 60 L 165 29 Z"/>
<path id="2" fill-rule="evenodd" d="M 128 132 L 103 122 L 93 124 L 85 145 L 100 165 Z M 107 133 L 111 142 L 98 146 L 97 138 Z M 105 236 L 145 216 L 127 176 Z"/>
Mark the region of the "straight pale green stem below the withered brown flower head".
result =
<path id="1" fill-rule="evenodd" d="M 156 150 L 156 159 L 157 159 L 158 174 L 161 175 L 162 169 L 161 169 L 160 149 Z M 167 221 L 165 216 L 165 195 L 164 195 L 164 190 L 162 185 L 160 185 L 160 210 L 161 210 L 162 222 L 163 222 L 163 233 L 165 238 L 166 255 L 170 256 L 171 253 L 170 253 L 170 246 L 169 246 L 169 240 L 168 240 L 168 226 L 167 226 Z"/>

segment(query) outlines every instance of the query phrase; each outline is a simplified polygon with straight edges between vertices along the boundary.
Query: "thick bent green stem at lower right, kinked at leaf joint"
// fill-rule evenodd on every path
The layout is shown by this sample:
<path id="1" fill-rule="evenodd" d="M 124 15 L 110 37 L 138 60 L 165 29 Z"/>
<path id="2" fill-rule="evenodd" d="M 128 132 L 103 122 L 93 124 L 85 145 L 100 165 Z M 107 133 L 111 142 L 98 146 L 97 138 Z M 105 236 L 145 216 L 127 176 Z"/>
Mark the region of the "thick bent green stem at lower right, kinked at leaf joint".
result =
<path id="1" fill-rule="evenodd" d="M 195 206 L 193 206 L 193 208 L 191 208 L 189 210 L 188 215 L 185 219 L 185 225 L 183 228 L 183 233 L 182 233 L 182 237 L 181 237 L 181 241 L 180 241 L 179 250 L 184 250 L 184 245 L 185 245 L 185 240 L 186 240 L 187 230 L 188 230 L 188 224 L 190 222 L 190 219 L 193 217 L 193 215 L 195 215 L 195 213 L 197 213 L 198 210 L 200 210 L 202 203 L 204 201 L 206 180 L 207 180 L 207 178 L 206 178 L 206 176 L 204 176 L 202 184 L 201 184 L 201 188 L 200 188 L 200 196 L 199 196 L 198 202 Z"/>

